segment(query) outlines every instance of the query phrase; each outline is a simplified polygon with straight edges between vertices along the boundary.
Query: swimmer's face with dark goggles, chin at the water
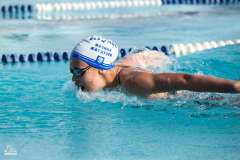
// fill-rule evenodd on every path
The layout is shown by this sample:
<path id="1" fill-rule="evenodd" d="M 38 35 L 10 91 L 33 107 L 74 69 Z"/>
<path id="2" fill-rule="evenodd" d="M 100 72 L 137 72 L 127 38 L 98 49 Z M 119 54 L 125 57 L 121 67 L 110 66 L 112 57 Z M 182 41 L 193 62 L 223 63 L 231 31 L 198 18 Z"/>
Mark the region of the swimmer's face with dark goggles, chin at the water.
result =
<path id="1" fill-rule="evenodd" d="M 79 60 L 70 61 L 72 81 L 84 91 L 95 91 L 101 88 L 101 77 L 98 70 Z"/>

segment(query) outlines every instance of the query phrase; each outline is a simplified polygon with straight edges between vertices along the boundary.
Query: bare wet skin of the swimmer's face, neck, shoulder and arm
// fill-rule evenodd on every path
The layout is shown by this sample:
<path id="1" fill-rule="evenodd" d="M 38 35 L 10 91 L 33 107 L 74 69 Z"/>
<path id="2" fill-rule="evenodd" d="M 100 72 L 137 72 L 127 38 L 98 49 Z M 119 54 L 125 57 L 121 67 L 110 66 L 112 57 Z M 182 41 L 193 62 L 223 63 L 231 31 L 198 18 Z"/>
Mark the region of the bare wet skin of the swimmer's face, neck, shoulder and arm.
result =
<path id="1" fill-rule="evenodd" d="M 129 93 L 140 96 L 178 90 L 240 93 L 239 81 L 225 80 L 205 75 L 152 73 L 146 70 L 136 69 L 132 67 L 132 65 L 133 63 L 128 60 L 125 61 L 125 63 L 117 64 L 110 70 L 98 70 L 91 67 L 83 76 L 73 76 L 72 80 L 78 87 L 85 91 L 97 91 L 103 88 L 114 88 L 117 85 L 121 85 Z M 71 68 L 85 68 L 87 66 L 88 64 L 83 61 L 70 61 Z"/>

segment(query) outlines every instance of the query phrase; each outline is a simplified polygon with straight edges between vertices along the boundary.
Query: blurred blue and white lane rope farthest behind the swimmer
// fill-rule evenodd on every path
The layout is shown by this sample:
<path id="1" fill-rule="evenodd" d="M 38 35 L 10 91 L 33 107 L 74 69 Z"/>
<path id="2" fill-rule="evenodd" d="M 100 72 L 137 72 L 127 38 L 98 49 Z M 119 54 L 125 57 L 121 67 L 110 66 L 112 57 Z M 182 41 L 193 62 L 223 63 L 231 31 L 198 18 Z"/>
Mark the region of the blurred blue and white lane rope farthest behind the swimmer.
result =
<path id="1" fill-rule="evenodd" d="M 0 5 L 2 19 L 69 19 L 68 14 L 85 11 L 97 11 L 118 8 L 149 8 L 164 5 L 236 5 L 240 0 L 113 0 L 113 1 L 86 1 L 86 2 L 56 2 L 36 4 L 9 4 Z M 79 14 L 78 14 L 79 15 Z M 94 19 L 99 14 L 83 15 L 78 18 L 70 16 L 70 19 Z M 59 18 L 60 17 L 60 18 Z M 91 17 L 91 18 L 89 18 Z M 102 15 L 100 18 L 109 18 L 110 15 Z"/>

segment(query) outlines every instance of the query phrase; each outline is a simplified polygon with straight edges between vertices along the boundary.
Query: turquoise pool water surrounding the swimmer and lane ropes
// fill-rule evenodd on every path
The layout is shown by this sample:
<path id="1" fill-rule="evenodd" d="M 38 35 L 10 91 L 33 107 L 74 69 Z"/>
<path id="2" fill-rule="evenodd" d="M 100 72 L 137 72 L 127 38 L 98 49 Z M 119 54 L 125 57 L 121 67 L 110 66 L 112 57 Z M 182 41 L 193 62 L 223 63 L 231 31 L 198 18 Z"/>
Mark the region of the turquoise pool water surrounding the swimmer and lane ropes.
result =
<path id="1" fill-rule="evenodd" d="M 71 51 L 90 34 L 126 48 L 240 37 L 239 6 L 159 10 L 141 18 L 2 20 L 0 52 Z M 235 45 L 173 58 L 164 70 L 240 79 L 239 62 Z M 239 159 L 239 95 L 186 92 L 146 100 L 119 91 L 79 94 L 68 62 L 0 65 L 0 159 Z M 17 155 L 5 155 L 8 147 Z"/>

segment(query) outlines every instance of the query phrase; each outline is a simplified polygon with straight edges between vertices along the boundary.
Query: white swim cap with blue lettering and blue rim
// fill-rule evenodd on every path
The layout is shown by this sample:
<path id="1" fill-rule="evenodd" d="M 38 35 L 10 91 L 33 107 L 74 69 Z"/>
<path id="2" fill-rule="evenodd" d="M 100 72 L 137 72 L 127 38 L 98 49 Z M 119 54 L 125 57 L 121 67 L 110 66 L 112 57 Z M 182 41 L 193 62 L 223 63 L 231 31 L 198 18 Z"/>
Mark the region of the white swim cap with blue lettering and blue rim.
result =
<path id="1" fill-rule="evenodd" d="M 81 40 L 73 49 L 71 59 L 81 60 L 97 69 L 111 69 L 118 57 L 118 47 L 111 40 L 91 36 Z"/>

